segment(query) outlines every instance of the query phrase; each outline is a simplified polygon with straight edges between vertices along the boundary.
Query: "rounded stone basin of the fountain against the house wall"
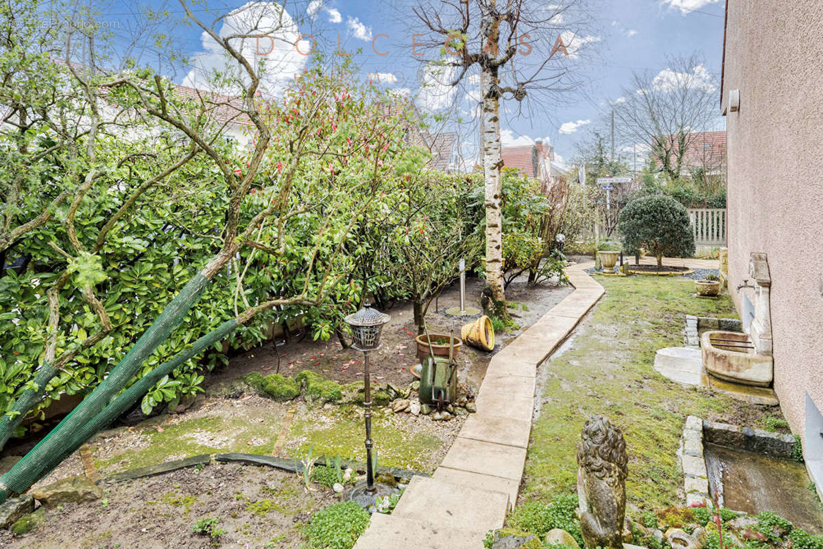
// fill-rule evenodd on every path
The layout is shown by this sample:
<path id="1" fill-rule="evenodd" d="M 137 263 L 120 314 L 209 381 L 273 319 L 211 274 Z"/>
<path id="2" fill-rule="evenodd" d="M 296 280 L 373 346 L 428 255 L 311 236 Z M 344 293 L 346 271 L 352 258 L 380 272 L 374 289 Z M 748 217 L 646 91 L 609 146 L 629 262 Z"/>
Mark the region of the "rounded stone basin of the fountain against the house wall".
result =
<path id="1" fill-rule="evenodd" d="M 710 375 L 738 384 L 769 387 L 773 361 L 758 354 L 746 333 L 712 330 L 700 337 L 703 366 Z"/>

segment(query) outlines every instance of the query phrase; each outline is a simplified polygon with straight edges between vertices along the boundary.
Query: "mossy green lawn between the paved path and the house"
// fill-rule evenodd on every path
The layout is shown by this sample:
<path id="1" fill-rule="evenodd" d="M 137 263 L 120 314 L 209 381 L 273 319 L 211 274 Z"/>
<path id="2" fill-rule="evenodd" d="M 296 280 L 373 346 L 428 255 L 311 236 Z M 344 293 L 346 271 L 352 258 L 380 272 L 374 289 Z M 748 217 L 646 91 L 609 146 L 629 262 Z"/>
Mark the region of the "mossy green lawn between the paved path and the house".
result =
<path id="1" fill-rule="evenodd" d="M 677 446 L 686 416 L 763 427 L 775 408 L 732 400 L 706 388 L 687 388 L 653 370 L 662 347 L 683 344 L 686 314 L 737 316 L 728 295 L 695 299 L 694 282 L 669 277 L 598 277 L 606 295 L 576 330 L 565 351 L 542 366 L 545 383 L 532 426 L 521 503 L 574 493 L 576 447 L 584 421 L 603 414 L 621 426 L 629 453 L 627 497 L 642 509 L 680 502 Z"/>

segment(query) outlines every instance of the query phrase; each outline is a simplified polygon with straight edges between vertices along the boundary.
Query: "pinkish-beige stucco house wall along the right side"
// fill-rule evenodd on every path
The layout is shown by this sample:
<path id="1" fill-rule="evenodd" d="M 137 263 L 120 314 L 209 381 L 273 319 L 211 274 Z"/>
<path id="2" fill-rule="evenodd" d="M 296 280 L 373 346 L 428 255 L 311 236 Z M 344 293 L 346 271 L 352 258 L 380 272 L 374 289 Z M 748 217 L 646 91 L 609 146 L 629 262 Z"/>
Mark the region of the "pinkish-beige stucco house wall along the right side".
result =
<path id="1" fill-rule="evenodd" d="M 751 252 L 772 277 L 774 388 L 794 433 L 805 394 L 823 410 L 823 2 L 728 0 L 729 289 Z M 747 295 L 754 303 L 751 290 Z"/>

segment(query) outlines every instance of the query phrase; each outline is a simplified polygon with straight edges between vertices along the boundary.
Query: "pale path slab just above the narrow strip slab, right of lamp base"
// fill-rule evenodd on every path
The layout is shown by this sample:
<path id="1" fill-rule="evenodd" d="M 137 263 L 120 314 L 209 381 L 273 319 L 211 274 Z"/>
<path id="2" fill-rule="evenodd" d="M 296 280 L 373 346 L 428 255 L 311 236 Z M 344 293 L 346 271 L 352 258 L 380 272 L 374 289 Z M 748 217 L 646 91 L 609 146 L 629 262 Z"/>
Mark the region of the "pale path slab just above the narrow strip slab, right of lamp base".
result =
<path id="1" fill-rule="evenodd" d="M 519 482 L 520 477 L 523 476 L 525 462 L 525 448 L 464 439 L 458 436 L 440 464 L 461 471 L 479 472 Z"/>

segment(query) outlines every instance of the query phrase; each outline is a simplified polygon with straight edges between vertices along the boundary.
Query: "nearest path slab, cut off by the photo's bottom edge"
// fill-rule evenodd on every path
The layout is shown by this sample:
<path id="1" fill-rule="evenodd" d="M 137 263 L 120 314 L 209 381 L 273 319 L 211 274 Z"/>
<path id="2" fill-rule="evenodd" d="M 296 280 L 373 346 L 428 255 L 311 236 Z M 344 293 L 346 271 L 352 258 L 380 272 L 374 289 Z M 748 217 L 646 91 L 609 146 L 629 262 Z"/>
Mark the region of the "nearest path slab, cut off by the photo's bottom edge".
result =
<path id="1" fill-rule="evenodd" d="M 354 549 L 483 547 L 485 537 L 486 532 L 470 528 L 470 525 L 440 527 L 393 514 L 375 513 L 371 515 L 369 528 L 357 540 Z"/>

